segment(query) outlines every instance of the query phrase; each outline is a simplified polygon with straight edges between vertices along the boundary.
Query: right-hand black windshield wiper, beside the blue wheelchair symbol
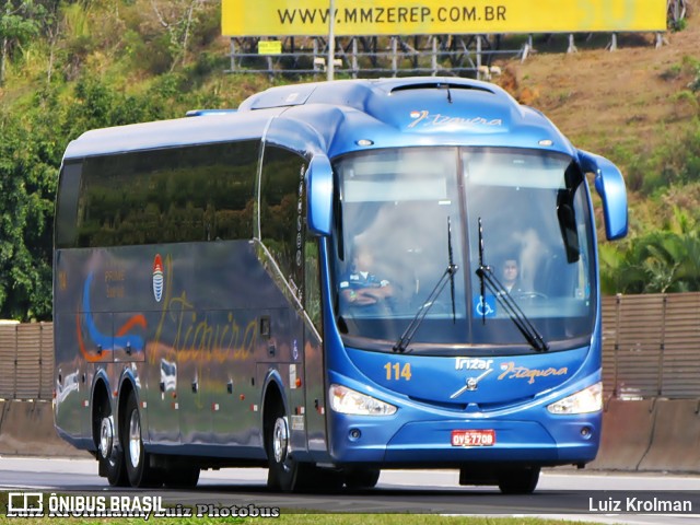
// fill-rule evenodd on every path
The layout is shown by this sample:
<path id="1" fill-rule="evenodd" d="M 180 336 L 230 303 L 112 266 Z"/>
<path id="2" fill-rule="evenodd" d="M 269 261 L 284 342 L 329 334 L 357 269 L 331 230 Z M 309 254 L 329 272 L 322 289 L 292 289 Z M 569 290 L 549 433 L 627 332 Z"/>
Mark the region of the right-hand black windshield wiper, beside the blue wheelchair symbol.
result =
<path id="1" fill-rule="evenodd" d="M 481 225 L 481 218 L 479 218 L 479 268 L 477 268 L 477 276 L 479 277 L 481 285 L 481 301 L 486 301 L 486 289 L 488 289 L 501 306 L 503 306 L 503 310 L 508 312 L 509 317 L 527 342 L 538 352 L 548 351 L 549 345 L 547 345 L 541 334 L 537 331 L 535 325 L 527 318 L 510 292 L 493 275 L 491 267 L 483 264 L 483 228 Z M 482 308 L 481 313 L 481 318 L 485 324 L 486 310 L 487 308 Z"/>

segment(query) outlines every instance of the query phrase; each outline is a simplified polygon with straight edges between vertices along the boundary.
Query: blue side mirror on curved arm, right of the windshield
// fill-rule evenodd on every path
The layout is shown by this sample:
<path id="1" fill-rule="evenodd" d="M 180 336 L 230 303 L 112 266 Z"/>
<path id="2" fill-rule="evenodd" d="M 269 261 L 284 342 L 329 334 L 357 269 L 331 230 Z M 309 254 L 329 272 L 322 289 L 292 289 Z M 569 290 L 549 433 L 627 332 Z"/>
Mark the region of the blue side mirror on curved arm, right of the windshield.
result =
<path id="1" fill-rule="evenodd" d="M 627 190 L 622 174 L 607 159 L 579 151 L 581 167 L 595 175 L 595 190 L 603 200 L 605 235 L 609 241 L 627 235 Z"/>

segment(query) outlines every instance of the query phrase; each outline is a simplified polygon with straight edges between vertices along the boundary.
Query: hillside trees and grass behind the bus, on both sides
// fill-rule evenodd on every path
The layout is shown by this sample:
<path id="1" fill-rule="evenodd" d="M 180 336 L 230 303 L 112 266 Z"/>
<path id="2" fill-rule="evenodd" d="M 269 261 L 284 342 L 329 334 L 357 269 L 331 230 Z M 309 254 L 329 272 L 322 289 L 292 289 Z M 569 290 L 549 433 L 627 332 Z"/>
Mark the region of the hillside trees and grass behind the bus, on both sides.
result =
<path id="1" fill-rule="evenodd" d="M 217 0 L 0 0 L 0 318 L 51 317 L 54 197 L 70 140 L 91 128 L 235 107 L 270 84 L 225 72 L 220 9 Z M 650 46 L 638 58 L 649 63 L 639 82 L 608 82 L 599 71 L 609 67 L 586 73 L 585 52 L 573 67 L 561 68 L 561 54 L 541 60 L 544 44 L 536 59 L 518 66 L 523 84 L 534 88 L 529 100 L 521 93 L 523 101 L 626 174 L 631 233 L 602 248 L 606 293 L 700 290 L 700 59 L 691 38 L 698 22 L 681 25 L 674 26 L 682 31 L 673 34 L 673 46 L 685 55 L 656 60 L 664 51 Z M 540 60 L 544 73 L 536 70 Z M 551 80 L 557 70 L 587 74 L 585 92 L 584 80 Z M 595 91 L 598 78 L 605 89 Z M 642 94 L 610 91 L 635 83 Z M 590 120 L 588 106 L 603 100 L 595 114 L 617 116 L 612 124 Z M 579 115 L 570 129 L 568 115 Z"/>

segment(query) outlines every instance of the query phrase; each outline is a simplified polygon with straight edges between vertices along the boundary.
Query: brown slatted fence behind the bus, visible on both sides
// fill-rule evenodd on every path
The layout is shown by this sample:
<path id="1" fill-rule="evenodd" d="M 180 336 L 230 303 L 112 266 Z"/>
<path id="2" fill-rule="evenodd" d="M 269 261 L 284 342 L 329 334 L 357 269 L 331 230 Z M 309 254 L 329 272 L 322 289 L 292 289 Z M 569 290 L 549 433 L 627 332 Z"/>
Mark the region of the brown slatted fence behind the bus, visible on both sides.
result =
<path id="1" fill-rule="evenodd" d="M 54 325 L 0 325 L 0 399 L 54 393 Z M 700 293 L 603 298 L 603 384 L 620 399 L 700 398 Z"/>

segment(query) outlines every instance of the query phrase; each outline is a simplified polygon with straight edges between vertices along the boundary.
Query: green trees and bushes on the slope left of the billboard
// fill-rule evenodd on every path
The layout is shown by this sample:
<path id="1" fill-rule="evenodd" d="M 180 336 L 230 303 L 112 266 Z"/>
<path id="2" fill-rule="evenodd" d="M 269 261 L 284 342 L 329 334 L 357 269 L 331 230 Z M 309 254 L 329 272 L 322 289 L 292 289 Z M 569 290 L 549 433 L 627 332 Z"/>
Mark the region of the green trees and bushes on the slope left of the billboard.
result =
<path id="1" fill-rule="evenodd" d="M 70 140 L 257 91 L 225 78 L 219 21 L 219 2 L 205 0 L 0 1 L 0 318 L 51 317 L 54 197 Z"/>

